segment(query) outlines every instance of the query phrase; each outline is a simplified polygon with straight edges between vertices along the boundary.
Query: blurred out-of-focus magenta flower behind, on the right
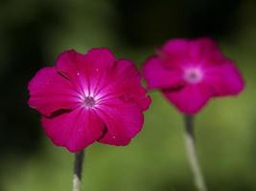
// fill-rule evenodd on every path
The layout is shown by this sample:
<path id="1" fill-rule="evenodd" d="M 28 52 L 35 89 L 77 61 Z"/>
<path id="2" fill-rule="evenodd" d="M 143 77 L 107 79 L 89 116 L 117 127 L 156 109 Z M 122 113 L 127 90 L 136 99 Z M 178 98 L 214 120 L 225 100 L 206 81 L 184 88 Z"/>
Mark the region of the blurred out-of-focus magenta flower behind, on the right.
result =
<path id="1" fill-rule="evenodd" d="M 182 113 L 194 115 L 215 96 L 238 95 L 244 80 L 210 38 L 174 39 L 151 56 L 143 75 Z"/>

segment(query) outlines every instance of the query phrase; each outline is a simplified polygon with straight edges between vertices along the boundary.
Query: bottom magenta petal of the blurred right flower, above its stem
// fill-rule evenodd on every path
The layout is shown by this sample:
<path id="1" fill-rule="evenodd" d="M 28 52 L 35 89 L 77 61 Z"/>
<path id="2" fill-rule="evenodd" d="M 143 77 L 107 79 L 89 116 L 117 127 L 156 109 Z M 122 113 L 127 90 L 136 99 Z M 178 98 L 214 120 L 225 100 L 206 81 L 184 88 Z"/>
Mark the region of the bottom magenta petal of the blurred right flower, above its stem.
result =
<path id="1" fill-rule="evenodd" d="M 164 91 L 175 107 L 182 113 L 196 114 L 212 96 L 212 90 L 202 84 L 187 85 L 179 91 Z"/>

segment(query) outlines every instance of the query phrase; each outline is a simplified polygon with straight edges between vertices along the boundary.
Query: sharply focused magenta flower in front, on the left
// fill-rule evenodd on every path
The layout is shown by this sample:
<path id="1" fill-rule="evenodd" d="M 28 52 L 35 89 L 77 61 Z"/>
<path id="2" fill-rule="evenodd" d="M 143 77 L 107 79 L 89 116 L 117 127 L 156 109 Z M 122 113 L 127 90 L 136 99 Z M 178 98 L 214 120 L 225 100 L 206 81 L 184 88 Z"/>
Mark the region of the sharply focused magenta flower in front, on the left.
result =
<path id="1" fill-rule="evenodd" d="M 71 152 L 95 141 L 127 145 L 151 103 L 133 63 L 108 49 L 61 53 L 56 66 L 35 74 L 29 92 L 46 135 Z"/>

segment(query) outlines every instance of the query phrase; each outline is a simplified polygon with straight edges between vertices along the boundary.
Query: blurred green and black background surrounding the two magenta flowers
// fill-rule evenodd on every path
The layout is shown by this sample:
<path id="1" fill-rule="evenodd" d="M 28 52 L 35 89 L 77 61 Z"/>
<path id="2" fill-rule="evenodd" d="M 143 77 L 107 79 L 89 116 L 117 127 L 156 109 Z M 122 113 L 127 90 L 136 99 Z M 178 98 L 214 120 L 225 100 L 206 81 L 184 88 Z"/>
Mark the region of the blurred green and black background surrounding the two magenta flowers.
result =
<path id="1" fill-rule="evenodd" d="M 211 36 L 237 61 L 241 96 L 210 101 L 196 120 L 209 190 L 256 190 L 256 1 L 1 0 L 0 191 L 69 191 L 73 155 L 42 132 L 27 83 L 58 53 L 108 47 L 141 67 L 174 37 Z M 182 116 L 151 93 L 143 131 L 127 147 L 86 149 L 83 190 L 194 191 Z"/>

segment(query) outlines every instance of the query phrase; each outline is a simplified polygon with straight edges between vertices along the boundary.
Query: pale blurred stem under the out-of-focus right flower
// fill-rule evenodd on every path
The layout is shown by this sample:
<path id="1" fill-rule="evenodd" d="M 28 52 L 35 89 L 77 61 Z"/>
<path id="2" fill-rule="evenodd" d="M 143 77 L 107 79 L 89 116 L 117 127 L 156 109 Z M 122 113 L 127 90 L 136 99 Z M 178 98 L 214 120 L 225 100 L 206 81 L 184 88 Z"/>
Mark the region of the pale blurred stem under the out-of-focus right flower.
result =
<path id="1" fill-rule="evenodd" d="M 198 191 L 207 191 L 206 184 L 204 182 L 200 166 L 198 163 L 198 156 L 195 147 L 194 137 L 194 117 L 185 115 L 185 143 L 187 147 L 188 159 L 191 166 L 191 170 L 194 175 L 194 181 L 198 188 Z"/>

